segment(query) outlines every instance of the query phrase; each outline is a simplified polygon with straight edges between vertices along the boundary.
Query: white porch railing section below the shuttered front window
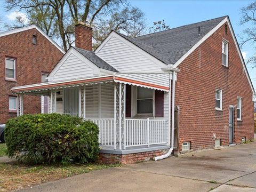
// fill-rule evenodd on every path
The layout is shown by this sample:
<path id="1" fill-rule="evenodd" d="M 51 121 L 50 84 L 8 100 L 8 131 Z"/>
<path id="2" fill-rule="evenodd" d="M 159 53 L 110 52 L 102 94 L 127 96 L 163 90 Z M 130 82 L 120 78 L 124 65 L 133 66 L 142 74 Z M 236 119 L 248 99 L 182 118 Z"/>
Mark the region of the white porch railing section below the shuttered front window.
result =
<path id="1" fill-rule="evenodd" d="M 167 120 L 126 119 L 126 147 L 167 143 Z"/>

